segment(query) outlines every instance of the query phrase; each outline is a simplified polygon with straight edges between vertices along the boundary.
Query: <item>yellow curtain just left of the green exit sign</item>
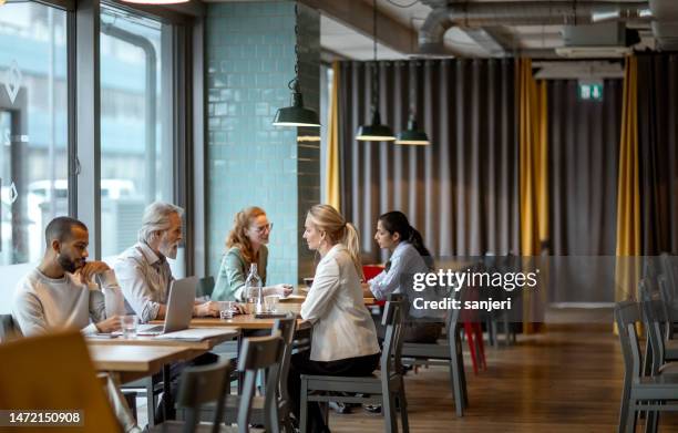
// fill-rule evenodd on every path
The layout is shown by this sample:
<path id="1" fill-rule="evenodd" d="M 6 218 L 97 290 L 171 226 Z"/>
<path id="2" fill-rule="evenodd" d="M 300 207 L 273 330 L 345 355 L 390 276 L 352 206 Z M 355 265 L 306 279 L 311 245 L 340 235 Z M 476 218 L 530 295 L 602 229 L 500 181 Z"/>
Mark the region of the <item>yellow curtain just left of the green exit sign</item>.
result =
<path id="1" fill-rule="evenodd" d="M 546 82 L 534 80 L 530 59 L 518 60 L 517 69 L 521 255 L 536 257 L 542 243 L 548 239 Z M 534 331 L 535 296 L 545 293 L 544 287 L 536 295 L 524 292 L 523 321 L 527 333 Z"/>

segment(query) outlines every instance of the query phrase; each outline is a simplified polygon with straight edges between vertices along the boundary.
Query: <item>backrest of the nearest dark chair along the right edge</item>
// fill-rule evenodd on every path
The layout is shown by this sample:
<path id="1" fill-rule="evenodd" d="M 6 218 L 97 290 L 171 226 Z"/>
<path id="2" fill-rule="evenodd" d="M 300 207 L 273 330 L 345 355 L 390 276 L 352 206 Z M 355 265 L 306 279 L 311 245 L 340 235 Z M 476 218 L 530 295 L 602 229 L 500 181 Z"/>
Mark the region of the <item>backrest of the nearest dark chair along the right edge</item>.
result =
<path id="1" fill-rule="evenodd" d="M 624 354 L 626 377 L 639 378 L 641 352 L 636 323 L 641 321 L 640 308 L 635 301 L 622 301 L 615 306 L 615 321 Z"/>

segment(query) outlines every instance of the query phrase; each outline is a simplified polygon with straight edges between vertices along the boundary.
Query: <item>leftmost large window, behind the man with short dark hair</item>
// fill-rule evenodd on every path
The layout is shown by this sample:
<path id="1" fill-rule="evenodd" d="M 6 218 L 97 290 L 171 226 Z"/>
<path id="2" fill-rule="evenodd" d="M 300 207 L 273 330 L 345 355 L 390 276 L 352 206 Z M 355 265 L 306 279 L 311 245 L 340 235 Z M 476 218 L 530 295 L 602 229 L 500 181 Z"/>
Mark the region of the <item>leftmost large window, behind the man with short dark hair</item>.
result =
<path id="1" fill-rule="evenodd" d="M 0 266 L 38 260 L 68 214 L 66 71 L 64 11 L 0 7 Z"/>

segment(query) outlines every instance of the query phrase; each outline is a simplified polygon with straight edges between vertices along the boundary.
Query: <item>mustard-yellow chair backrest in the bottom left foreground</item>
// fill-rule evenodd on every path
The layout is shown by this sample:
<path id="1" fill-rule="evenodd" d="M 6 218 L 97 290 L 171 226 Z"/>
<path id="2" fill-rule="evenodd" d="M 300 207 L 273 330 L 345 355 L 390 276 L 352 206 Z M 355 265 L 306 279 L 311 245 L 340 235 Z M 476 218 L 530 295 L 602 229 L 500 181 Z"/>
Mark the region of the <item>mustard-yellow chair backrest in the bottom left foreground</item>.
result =
<path id="1" fill-rule="evenodd" d="M 80 332 L 2 343 L 0 360 L 0 408 L 76 409 L 84 416 L 78 431 L 121 431 Z"/>

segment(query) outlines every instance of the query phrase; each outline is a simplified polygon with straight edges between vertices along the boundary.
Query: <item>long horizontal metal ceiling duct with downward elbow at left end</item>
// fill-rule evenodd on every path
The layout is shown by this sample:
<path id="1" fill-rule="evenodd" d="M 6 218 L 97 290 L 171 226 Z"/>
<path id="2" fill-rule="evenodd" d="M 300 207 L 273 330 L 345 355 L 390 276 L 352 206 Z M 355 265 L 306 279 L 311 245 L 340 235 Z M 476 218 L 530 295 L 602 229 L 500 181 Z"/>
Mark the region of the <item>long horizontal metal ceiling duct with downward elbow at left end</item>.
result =
<path id="1" fill-rule="evenodd" d="M 667 1 L 676 2 L 675 0 Z M 419 50 L 422 54 L 444 53 L 443 37 L 452 25 L 461 28 L 578 25 L 612 20 L 647 21 L 653 16 L 647 1 L 616 3 L 609 1 L 450 3 L 446 0 L 423 0 L 422 2 L 433 9 L 419 30 Z"/>

